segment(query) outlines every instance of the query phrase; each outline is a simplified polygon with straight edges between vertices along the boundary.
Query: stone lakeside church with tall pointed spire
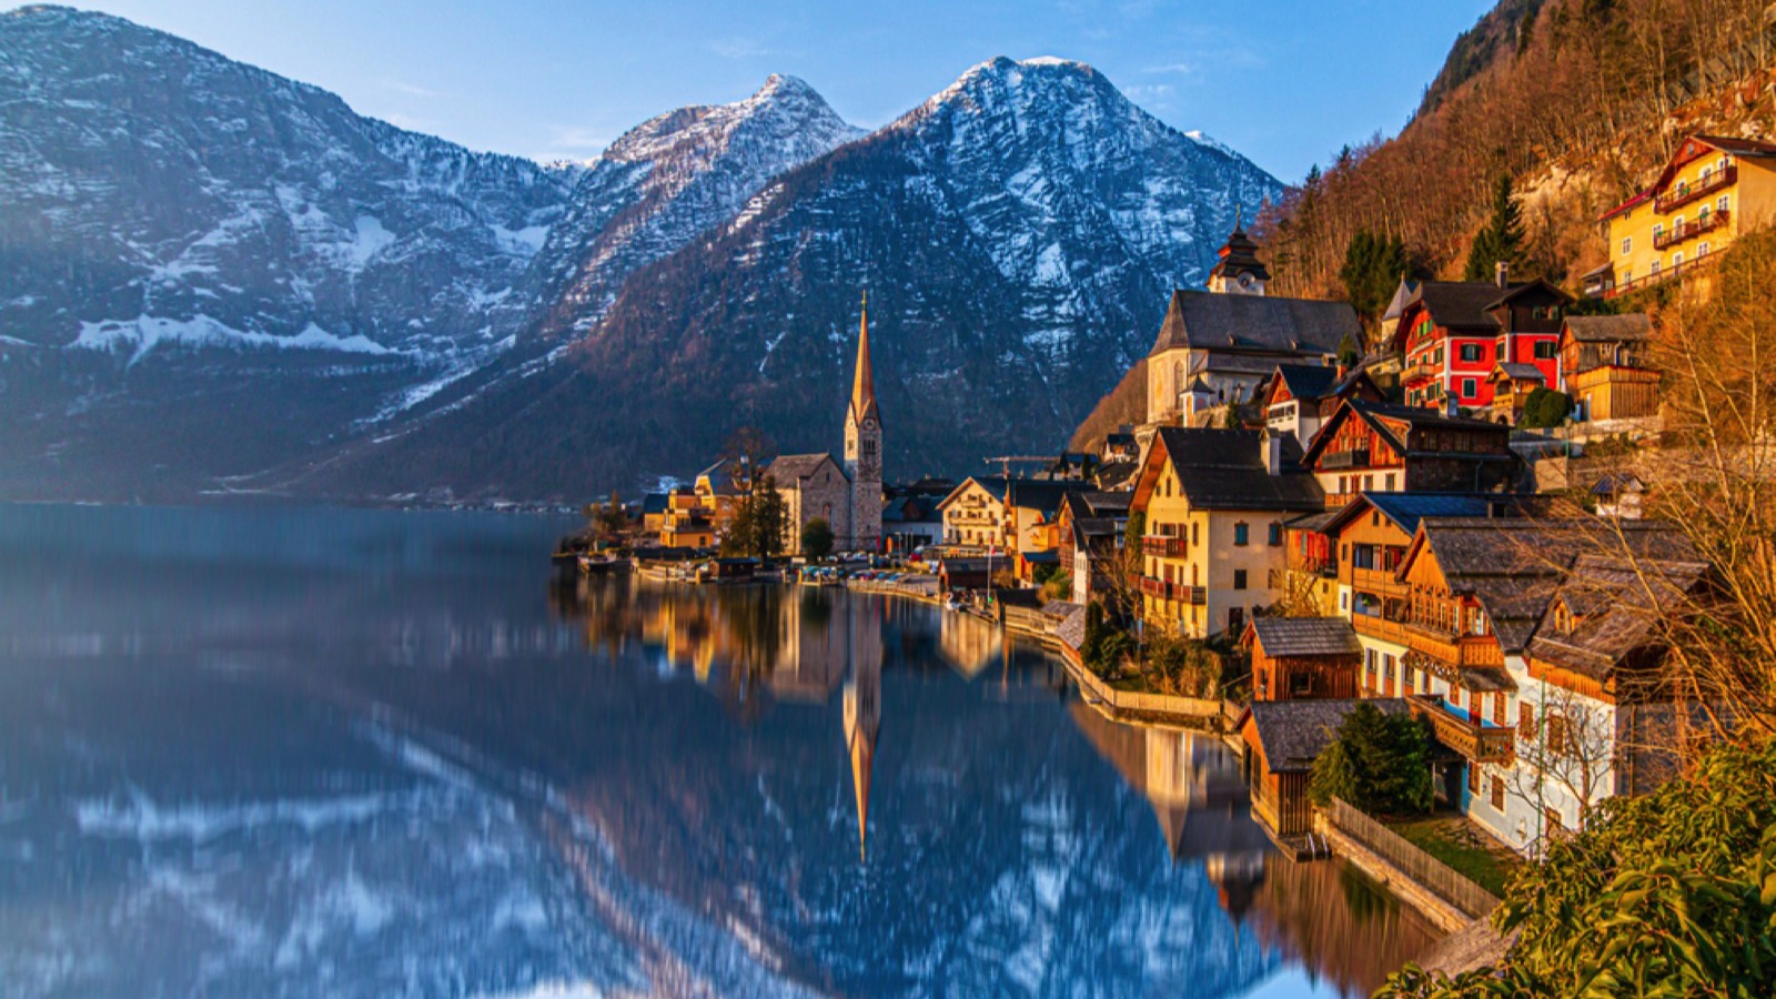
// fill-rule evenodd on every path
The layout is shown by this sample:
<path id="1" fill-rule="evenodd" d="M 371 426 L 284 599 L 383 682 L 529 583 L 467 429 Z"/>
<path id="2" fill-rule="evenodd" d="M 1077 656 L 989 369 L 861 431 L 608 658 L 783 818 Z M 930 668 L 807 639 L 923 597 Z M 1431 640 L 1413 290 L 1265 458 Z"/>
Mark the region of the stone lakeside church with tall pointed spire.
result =
<path id="1" fill-rule="evenodd" d="M 835 551 L 877 551 L 883 537 L 883 425 L 870 368 L 868 299 L 858 329 L 858 368 L 845 411 L 845 460 L 831 453 L 783 455 L 765 469 L 783 496 L 783 551 L 801 553 L 801 528 L 821 517 Z"/>

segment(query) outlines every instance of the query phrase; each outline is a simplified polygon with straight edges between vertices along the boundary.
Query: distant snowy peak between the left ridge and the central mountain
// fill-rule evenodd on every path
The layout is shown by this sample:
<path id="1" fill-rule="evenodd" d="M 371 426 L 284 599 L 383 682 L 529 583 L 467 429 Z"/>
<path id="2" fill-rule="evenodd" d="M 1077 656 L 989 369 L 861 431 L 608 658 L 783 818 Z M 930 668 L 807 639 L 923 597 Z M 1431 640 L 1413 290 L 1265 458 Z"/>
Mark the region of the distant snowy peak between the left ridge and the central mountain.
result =
<path id="1" fill-rule="evenodd" d="M 776 73 L 744 101 L 632 128 L 581 178 L 543 249 L 554 306 L 543 331 L 584 331 L 630 272 L 732 219 L 771 178 L 861 135 L 813 87 Z"/>

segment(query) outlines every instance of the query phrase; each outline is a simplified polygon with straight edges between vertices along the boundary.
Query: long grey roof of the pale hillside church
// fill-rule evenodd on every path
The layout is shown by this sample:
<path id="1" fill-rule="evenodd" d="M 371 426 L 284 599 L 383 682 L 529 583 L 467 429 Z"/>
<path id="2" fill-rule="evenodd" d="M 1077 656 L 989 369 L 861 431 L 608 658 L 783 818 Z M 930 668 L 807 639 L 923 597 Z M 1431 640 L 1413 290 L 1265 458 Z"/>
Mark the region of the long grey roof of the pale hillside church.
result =
<path id="1" fill-rule="evenodd" d="M 1362 343 L 1350 302 L 1172 292 L 1153 352 L 1181 347 L 1291 356 L 1337 354 L 1344 338 Z"/>

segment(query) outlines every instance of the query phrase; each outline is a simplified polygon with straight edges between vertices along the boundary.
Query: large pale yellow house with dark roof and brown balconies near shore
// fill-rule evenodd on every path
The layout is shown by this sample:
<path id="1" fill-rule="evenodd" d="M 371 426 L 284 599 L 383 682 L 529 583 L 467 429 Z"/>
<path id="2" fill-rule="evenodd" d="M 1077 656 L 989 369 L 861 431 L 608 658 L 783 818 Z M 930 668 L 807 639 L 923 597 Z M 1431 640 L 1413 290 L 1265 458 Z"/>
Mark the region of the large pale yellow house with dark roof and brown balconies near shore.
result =
<path id="1" fill-rule="evenodd" d="M 1284 523 L 1323 507 L 1293 434 L 1162 427 L 1130 505 L 1146 517 L 1146 624 L 1185 638 L 1240 635 L 1284 595 Z"/>

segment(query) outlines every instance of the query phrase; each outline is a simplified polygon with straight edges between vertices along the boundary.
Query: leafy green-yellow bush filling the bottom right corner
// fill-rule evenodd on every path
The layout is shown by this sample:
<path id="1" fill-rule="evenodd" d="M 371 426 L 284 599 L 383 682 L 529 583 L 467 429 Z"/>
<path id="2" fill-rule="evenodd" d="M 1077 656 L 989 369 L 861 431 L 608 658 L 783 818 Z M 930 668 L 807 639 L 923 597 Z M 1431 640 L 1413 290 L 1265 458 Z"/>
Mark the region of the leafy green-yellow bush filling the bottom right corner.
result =
<path id="1" fill-rule="evenodd" d="M 1721 747 L 1641 798 L 1609 798 L 1506 889 L 1499 967 L 1407 965 L 1376 995 L 1776 994 L 1776 739 Z"/>

